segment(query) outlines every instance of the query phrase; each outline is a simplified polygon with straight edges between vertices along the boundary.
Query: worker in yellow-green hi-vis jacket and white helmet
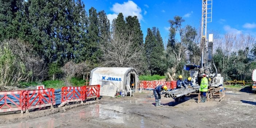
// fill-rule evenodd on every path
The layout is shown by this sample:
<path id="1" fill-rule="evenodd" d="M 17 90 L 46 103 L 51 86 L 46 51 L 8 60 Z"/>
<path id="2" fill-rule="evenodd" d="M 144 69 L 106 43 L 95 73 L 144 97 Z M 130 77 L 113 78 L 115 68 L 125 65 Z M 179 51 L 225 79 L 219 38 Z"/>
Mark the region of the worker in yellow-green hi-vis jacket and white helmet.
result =
<path id="1" fill-rule="evenodd" d="M 201 102 L 205 102 L 206 100 L 206 92 L 208 92 L 208 79 L 206 78 L 206 74 L 201 75 L 201 84 L 200 84 L 200 95 L 201 95 Z"/>

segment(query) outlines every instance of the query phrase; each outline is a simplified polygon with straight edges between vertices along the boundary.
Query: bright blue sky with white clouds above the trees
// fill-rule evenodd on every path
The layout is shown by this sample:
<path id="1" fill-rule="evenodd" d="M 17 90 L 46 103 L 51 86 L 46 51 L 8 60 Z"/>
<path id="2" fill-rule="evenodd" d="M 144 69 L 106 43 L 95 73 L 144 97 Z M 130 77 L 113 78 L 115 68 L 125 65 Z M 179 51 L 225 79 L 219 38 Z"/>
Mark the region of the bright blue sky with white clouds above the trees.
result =
<path id="1" fill-rule="evenodd" d="M 137 16 L 144 40 L 147 28 L 157 27 L 164 44 L 168 39 L 168 20 L 178 15 L 185 25 L 201 27 L 202 0 L 82 0 L 85 10 L 94 7 L 104 10 L 110 22 L 122 12 L 124 17 Z M 209 32 L 250 34 L 256 37 L 256 0 L 212 0 L 212 22 L 207 23 Z"/>

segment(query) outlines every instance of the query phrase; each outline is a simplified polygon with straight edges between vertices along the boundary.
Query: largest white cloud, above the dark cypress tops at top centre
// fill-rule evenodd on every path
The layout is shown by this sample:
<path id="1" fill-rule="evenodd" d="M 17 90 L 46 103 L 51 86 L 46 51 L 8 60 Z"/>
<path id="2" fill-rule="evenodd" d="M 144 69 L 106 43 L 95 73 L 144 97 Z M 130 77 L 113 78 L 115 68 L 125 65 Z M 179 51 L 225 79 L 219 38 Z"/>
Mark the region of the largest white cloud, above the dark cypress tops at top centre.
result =
<path id="1" fill-rule="evenodd" d="M 113 14 L 108 14 L 107 17 L 109 21 L 112 23 L 112 20 L 114 18 L 117 18 L 117 15 L 119 13 L 123 13 L 124 17 L 127 16 L 137 16 L 137 18 L 140 20 L 143 19 L 143 16 L 141 15 L 141 9 L 140 7 L 135 4 L 133 1 L 128 0 L 127 2 L 124 2 L 123 4 L 115 3 L 111 10 L 114 12 Z M 145 13 L 145 12 L 144 12 Z"/>

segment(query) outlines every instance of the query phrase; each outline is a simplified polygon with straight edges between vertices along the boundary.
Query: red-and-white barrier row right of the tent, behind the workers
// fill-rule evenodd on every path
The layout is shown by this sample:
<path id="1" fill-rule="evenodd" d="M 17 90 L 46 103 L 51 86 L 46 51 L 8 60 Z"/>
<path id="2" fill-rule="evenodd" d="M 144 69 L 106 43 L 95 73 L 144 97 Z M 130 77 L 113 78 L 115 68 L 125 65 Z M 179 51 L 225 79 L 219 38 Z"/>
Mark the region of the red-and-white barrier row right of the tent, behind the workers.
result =
<path id="1" fill-rule="evenodd" d="M 166 85 L 168 89 L 175 89 L 177 81 L 139 81 L 139 87 L 143 89 L 154 89 L 158 85 Z"/>

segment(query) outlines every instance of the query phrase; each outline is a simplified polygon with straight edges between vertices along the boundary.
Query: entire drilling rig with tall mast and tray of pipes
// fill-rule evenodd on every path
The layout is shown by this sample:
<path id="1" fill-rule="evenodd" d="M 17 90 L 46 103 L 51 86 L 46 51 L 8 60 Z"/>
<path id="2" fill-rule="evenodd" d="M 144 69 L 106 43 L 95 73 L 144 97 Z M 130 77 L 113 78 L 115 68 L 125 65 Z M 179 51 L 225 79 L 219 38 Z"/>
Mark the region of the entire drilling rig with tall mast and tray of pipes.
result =
<path id="1" fill-rule="evenodd" d="M 202 0 L 202 22 L 201 22 L 201 60 L 200 65 L 185 65 L 190 67 L 191 82 L 196 85 L 193 89 L 179 89 L 168 92 L 165 97 L 177 98 L 186 94 L 199 92 L 201 83 L 201 74 L 206 74 L 208 79 L 207 100 L 219 100 L 225 96 L 223 86 L 223 77 L 218 74 L 217 68 L 213 61 L 213 34 L 209 34 L 207 39 L 207 23 L 212 22 L 212 0 Z M 199 85 L 199 86 L 198 86 Z M 198 94 L 198 93 L 196 93 Z"/>

